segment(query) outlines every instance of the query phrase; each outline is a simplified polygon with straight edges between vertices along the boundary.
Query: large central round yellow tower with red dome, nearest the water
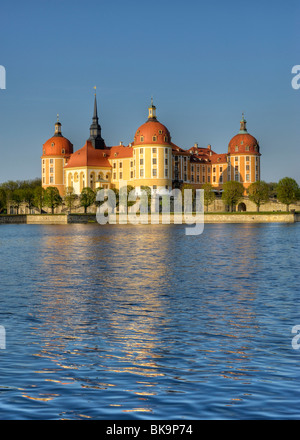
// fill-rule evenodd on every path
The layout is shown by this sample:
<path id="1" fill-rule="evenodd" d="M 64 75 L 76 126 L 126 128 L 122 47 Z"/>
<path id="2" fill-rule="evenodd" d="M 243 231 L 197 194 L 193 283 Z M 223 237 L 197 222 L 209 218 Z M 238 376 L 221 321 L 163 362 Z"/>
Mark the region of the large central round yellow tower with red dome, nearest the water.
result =
<path id="1" fill-rule="evenodd" d="M 156 118 L 156 107 L 148 107 L 148 119 L 134 136 L 134 186 L 149 186 L 152 191 L 172 189 L 172 144 L 169 130 Z"/>

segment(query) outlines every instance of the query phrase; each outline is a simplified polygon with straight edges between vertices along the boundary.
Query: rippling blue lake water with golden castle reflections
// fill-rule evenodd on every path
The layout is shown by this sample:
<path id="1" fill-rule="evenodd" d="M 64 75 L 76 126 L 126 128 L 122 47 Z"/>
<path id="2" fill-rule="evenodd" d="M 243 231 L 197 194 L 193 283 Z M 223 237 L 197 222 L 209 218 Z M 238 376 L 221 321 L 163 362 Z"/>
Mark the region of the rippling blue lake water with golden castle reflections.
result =
<path id="1" fill-rule="evenodd" d="M 0 419 L 299 419 L 299 241 L 1 225 Z"/>

